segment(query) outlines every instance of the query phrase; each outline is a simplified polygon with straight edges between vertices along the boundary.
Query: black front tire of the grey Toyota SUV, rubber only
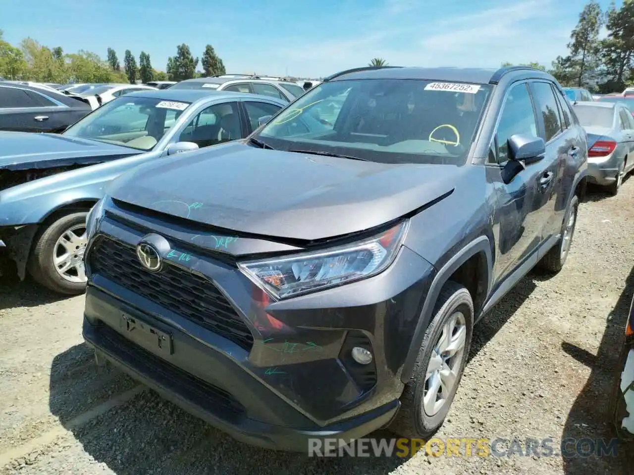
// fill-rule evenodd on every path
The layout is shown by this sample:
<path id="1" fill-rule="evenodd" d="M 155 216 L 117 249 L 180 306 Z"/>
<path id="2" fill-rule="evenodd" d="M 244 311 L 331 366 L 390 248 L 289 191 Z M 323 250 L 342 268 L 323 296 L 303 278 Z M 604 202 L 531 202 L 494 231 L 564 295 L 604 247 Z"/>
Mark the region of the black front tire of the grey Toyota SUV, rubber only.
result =
<path id="1" fill-rule="evenodd" d="M 446 395 L 441 409 L 436 414 L 428 415 L 422 405 L 425 395 L 427 365 L 430 362 L 434 346 L 443 334 L 443 326 L 457 311 L 462 312 L 465 320 L 465 346 L 460 358 L 460 366 L 456 372 L 456 381 Z M 460 384 L 467 357 L 469 357 L 473 322 L 474 305 L 469 291 L 456 282 L 446 282 L 436 301 L 434 316 L 425 332 L 410 381 L 405 385 L 403 395 L 401 395 L 401 408 L 389 426 L 390 431 L 401 437 L 427 439 L 443 425 Z"/>

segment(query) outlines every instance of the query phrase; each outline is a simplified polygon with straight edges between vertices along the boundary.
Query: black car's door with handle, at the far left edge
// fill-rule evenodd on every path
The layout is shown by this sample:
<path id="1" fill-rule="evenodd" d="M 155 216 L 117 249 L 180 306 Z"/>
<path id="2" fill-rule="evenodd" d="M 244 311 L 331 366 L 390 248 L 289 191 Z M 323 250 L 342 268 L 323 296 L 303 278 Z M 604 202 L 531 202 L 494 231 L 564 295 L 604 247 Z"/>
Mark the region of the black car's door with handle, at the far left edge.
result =
<path id="1" fill-rule="evenodd" d="M 60 116 L 57 114 L 64 109 L 65 106 L 45 101 L 37 92 L 18 87 L 0 87 L 0 130 L 58 131 Z"/>

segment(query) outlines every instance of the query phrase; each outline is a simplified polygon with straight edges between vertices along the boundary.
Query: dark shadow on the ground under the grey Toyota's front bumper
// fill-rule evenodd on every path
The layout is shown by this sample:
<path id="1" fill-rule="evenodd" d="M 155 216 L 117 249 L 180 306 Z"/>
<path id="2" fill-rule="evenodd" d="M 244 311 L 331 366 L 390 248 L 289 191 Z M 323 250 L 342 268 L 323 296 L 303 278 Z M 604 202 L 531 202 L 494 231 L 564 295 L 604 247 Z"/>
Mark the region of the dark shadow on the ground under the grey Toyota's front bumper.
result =
<path id="1" fill-rule="evenodd" d="M 117 475 L 209 473 L 346 473 L 384 475 L 399 457 L 311 458 L 245 445 L 145 390 L 119 407 L 108 401 L 138 383 L 107 366 L 98 369 L 87 345 L 53 359 L 49 409 L 85 452 Z M 107 408 L 103 410 L 100 408 Z M 372 434 L 391 438 L 386 431 Z"/>

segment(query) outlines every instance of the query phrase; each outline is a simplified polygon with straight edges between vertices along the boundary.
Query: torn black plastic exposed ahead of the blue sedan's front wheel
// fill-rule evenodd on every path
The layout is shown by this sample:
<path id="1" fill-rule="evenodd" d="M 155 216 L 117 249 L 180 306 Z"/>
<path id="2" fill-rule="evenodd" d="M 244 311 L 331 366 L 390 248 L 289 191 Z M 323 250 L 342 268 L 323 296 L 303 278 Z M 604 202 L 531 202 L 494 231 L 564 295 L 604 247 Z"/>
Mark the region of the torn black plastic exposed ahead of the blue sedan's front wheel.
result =
<path id="1" fill-rule="evenodd" d="M 37 228 L 37 224 L 0 227 L 0 276 L 17 274 L 24 280 Z"/>

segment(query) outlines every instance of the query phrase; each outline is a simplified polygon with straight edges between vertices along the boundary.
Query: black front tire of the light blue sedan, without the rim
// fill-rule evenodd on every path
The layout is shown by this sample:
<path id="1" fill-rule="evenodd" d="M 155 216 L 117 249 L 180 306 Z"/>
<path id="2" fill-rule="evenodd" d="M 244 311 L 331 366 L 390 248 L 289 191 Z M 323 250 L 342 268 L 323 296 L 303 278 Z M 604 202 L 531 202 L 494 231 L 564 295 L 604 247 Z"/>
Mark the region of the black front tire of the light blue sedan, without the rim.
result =
<path id="1" fill-rule="evenodd" d="M 60 276 L 53 263 L 55 244 L 61 235 L 76 225 L 86 223 L 87 212 L 75 212 L 45 224 L 37 234 L 29 255 L 27 270 L 38 284 L 63 295 L 79 295 L 86 290 L 86 283 L 70 282 Z"/>

